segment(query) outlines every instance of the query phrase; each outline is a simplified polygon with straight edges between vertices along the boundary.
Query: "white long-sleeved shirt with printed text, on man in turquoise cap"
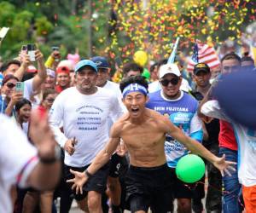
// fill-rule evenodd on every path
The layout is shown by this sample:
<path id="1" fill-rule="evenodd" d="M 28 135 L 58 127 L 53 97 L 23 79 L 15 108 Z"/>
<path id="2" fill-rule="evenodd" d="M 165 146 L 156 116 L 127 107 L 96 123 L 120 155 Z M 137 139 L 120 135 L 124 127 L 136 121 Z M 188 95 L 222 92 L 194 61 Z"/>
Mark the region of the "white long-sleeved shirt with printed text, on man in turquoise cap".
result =
<path id="1" fill-rule="evenodd" d="M 65 89 L 49 111 L 49 124 L 61 147 L 67 139 L 76 137 L 78 141 L 72 156 L 65 152 L 64 163 L 69 166 L 90 164 L 108 141 L 108 117 L 115 121 L 123 114 L 112 92 L 97 89 L 92 95 L 83 95 L 75 87 Z M 64 134 L 59 129 L 61 121 Z"/>

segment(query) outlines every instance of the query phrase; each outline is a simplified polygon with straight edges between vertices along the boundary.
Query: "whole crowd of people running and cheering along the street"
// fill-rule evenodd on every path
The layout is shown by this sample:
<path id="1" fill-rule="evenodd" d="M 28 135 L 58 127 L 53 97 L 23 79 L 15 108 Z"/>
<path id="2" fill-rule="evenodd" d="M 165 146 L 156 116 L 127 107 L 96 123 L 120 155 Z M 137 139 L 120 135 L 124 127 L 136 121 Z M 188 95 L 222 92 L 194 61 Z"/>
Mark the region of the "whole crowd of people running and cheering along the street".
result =
<path id="1" fill-rule="evenodd" d="M 44 61 L 37 49 L 35 60 L 25 52 L 0 67 L 1 211 L 56 212 L 61 198 L 61 213 L 74 199 L 84 212 L 256 212 L 256 130 L 234 125 L 212 95 L 219 75 L 253 70 L 251 57 L 226 53 L 214 73 L 197 63 L 189 74 L 163 59 L 148 79 L 131 60 L 115 65 L 120 83 L 102 56 L 54 50 Z M 207 164 L 195 183 L 176 175 L 189 153 Z"/>

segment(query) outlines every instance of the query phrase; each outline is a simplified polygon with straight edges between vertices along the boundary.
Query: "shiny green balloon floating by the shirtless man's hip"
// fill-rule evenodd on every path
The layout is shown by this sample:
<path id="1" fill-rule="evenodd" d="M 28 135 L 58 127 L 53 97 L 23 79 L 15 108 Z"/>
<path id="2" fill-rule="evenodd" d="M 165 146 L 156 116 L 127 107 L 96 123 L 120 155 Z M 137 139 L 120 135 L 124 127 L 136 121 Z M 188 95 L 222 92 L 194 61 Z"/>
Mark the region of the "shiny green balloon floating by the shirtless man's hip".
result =
<path id="1" fill-rule="evenodd" d="M 178 160 L 176 175 L 179 180 L 192 183 L 199 181 L 204 176 L 205 170 L 206 165 L 202 158 L 195 154 L 188 154 Z"/>

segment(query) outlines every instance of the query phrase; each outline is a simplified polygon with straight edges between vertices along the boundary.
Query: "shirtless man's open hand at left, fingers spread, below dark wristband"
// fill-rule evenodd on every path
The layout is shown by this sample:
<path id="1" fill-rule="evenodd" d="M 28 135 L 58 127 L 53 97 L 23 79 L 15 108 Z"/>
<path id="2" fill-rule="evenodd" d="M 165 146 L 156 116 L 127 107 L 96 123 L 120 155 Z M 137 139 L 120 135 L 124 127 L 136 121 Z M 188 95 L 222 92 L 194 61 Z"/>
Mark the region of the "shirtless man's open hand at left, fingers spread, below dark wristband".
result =
<path id="1" fill-rule="evenodd" d="M 70 172 L 74 175 L 73 179 L 67 180 L 67 182 L 73 182 L 72 190 L 75 190 L 76 194 L 83 193 L 83 186 L 85 182 L 88 180 L 88 177 L 85 176 L 84 172 L 70 170 Z"/>

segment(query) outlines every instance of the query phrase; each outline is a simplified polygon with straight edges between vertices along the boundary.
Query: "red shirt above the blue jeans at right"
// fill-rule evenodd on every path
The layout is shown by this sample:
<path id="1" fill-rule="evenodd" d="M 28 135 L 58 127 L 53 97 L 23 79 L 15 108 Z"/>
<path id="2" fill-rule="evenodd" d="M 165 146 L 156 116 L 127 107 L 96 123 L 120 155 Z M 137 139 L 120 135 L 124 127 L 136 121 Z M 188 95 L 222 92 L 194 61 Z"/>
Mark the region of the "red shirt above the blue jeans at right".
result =
<path id="1" fill-rule="evenodd" d="M 236 136 L 230 123 L 219 120 L 219 147 L 229 148 L 237 151 Z"/>

